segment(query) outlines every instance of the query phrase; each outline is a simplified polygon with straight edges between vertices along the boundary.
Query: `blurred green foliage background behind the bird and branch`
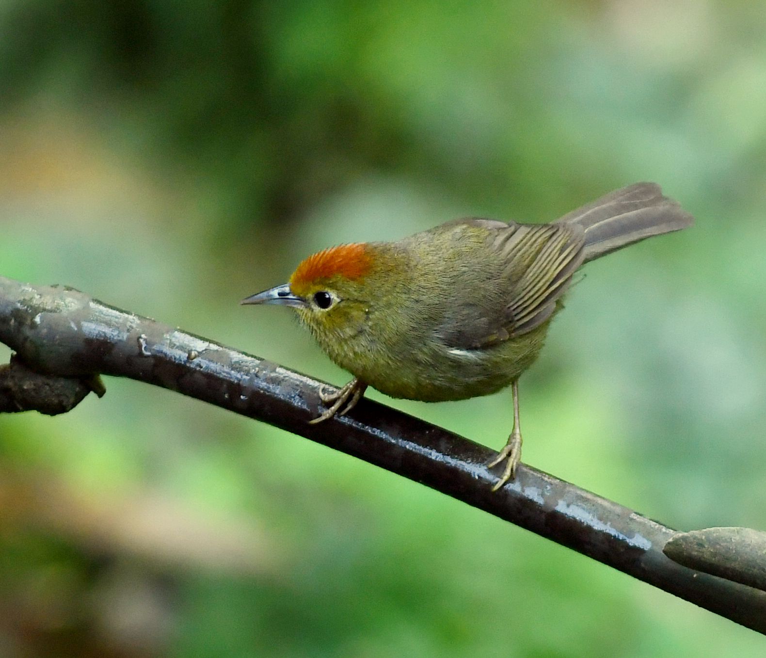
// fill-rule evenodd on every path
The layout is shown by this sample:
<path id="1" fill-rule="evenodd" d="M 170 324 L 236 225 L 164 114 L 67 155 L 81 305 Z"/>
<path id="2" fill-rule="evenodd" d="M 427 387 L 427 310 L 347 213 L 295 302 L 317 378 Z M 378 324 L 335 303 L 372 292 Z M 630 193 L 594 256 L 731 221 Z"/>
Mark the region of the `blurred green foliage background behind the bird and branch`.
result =
<path id="1" fill-rule="evenodd" d="M 660 182 L 696 227 L 584 270 L 522 379 L 525 461 L 681 529 L 764 529 L 762 18 L 758 0 L 5 0 L 0 274 L 342 384 L 291 313 L 238 301 L 331 244 Z M 0 417 L 0 656 L 764 655 L 423 486 L 106 386 Z M 369 395 L 493 447 L 510 426 L 508 393 Z"/>

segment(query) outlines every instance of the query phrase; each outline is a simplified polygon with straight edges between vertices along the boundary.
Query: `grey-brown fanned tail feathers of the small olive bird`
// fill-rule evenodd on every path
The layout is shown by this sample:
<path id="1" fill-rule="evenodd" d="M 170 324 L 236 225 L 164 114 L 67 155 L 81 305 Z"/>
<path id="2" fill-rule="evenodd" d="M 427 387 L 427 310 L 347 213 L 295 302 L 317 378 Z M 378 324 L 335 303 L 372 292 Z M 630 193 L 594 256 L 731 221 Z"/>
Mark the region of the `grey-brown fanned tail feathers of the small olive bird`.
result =
<path id="1" fill-rule="evenodd" d="M 585 230 L 584 260 L 593 260 L 653 235 L 680 231 L 694 218 L 656 183 L 636 183 L 610 192 L 557 220 Z"/>

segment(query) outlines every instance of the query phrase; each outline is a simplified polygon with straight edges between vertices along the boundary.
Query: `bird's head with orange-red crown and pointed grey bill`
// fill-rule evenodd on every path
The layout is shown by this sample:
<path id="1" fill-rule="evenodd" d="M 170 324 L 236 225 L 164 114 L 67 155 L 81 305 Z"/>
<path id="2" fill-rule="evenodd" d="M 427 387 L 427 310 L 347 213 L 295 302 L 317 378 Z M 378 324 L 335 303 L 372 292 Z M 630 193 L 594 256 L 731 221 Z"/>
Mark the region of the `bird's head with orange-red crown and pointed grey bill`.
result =
<path id="1" fill-rule="evenodd" d="M 293 306 L 320 344 L 364 331 L 373 303 L 368 275 L 375 264 L 370 244 L 342 244 L 312 254 L 289 283 L 247 297 L 243 304 Z"/>

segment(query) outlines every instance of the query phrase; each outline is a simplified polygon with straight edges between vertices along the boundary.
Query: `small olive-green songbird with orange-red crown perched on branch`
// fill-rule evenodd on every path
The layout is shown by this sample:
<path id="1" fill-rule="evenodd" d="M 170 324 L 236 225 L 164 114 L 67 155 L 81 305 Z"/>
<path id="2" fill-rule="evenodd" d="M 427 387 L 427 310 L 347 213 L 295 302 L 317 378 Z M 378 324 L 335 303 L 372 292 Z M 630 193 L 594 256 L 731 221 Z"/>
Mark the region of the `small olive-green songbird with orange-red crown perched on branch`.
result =
<path id="1" fill-rule="evenodd" d="M 493 490 L 521 457 L 519 377 L 537 358 L 575 270 L 693 223 L 654 183 L 637 183 L 551 224 L 465 218 L 396 242 L 342 244 L 303 260 L 290 282 L 243 304 L 293 306 L 332 361 L 354 375 L 313 423 L 345 414 L 372 386 L 392 398 L 463 400 L 511 386 L 513 427 L 489 466 Z"/>

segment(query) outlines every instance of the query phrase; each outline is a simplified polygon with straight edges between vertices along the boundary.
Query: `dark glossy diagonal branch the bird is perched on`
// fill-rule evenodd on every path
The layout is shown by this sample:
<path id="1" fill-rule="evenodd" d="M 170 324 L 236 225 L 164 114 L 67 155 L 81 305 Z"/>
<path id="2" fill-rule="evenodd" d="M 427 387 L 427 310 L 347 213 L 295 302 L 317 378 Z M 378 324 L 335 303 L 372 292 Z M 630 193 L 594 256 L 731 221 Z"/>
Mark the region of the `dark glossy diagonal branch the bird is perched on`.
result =
<path id="1" fill-rule="evenodd" d="M 322 382 L 266 359 L 106 306 L 71 288 L 3 277 L 0 341 L 37 373 L 86 382 L 100 374 L 129 377 L 300 434 L 766 633 L 766 591 L 668 558 L 663 548 L 676 534 L 672 529 L 523 464 L 514 482 L 493 493 L 496 476 L 486 468 L 493 450 L 374 401 L 311 425 Z"/>

